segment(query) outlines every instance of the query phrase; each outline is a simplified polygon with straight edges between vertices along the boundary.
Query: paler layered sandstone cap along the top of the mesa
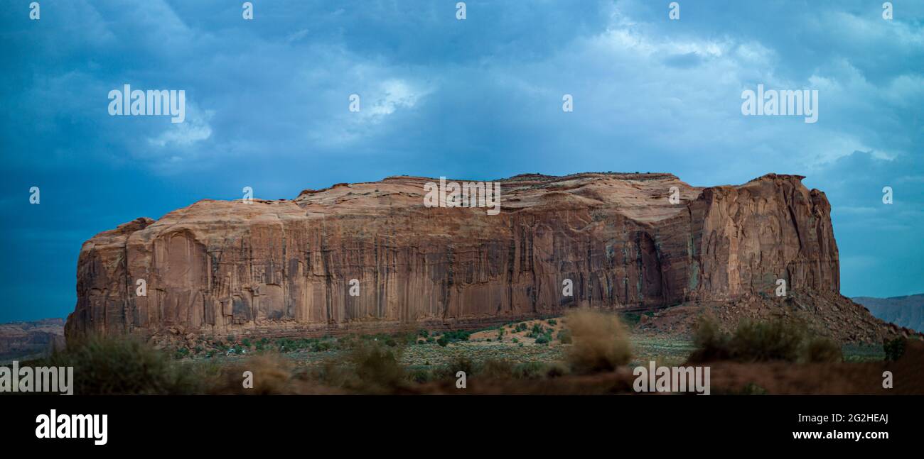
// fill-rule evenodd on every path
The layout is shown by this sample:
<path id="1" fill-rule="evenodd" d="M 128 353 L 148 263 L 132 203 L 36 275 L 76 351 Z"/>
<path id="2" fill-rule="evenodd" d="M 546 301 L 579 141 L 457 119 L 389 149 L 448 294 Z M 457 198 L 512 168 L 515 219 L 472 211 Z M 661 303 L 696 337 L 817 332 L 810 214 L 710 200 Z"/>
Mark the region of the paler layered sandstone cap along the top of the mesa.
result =
<path id="1" fill-rule="evenodd" d="M 773 182 L 798 183 L 798 175 L 766 174 L 741 185 L 695 187 L 670 173 L 584 172 L 565 176 L 520 174 L 489 182 L 444 179 L 444 183 L 478 183 L 487 187 L 495 184 L 501 190 L 500 215 L 487 215 L 483 208 L 428 208 L 424 197 L 428 183 L 437 188 L 441 178 L 394 176 L 380 182 L 337 183 L 322 190 L 303 190 L 295 199 L 265 200 L 259 192 L 247 204 L 241 199 L 224 201 L 202 199 L 190 206 L 176 209 L 158 220 L 137 218 L 116 230 L 103 231 L 93 238 L 97 247 L 121 243 L 138 231 L 150 238 L 161 231 L 191 230 L 197 234 L 230 234 L 245 230 L 249 224 L 276 224 L 284 220 L 314 218 L 386 218 L 414 216 L 426 218 L 442 215 L 450 218 L 504 218 L 519 211 L 567 212 L 602 211 L 621 215 L 642 223 L 672 218 L 699 198 L 705 190 L 723 193 L 726 189 L 760 188 Z M 801 186 L 801 185 L 800 185 Z M 676 187 L 676 189 L 674 189 Z M 815 193 L 815 191 L 813 191 Z M 821 192 L 818 192 L 821 193 Z M 679 202 L 669 199 L 676 194 Z M 475 221 L 475 220 L 471 220 Z"/>

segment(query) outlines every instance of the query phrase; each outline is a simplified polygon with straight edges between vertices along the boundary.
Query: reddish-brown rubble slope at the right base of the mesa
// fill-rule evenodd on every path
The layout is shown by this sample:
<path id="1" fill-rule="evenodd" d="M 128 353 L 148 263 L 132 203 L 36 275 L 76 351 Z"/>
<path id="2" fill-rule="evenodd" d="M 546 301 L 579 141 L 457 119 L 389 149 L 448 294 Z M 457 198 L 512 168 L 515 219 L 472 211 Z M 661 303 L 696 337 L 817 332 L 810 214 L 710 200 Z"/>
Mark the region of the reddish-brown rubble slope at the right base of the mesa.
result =
<path id="1" fill-rule="evenodd" d="M 785 297 L 746 295 L 730 301 L 687 302 L 644 314 L 638 332 L 693 335 L 697 320 L 710 317 L 723 332 L 732 332 L 742 321 L 793 320 L 813 335 L 843 343 L 881 343 L 897 336 L 920 336 L 909 328 L 873 317 L 863 306 L 833 292 L 791 292 Z"/>

